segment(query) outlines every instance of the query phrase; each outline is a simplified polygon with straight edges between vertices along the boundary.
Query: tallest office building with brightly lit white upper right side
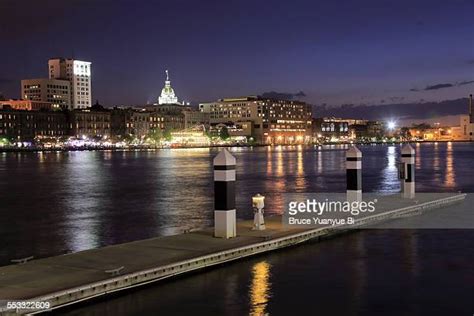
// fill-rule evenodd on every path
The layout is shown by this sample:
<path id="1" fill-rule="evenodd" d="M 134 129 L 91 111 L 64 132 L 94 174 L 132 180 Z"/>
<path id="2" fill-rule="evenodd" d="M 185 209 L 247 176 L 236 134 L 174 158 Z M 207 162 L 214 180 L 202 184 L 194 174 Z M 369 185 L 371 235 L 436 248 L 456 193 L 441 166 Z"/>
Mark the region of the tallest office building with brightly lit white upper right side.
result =
<path id="1" fill-rule="evenodd" d="M 52 58 L 48 61 L 49 78 L 70 82 L 71 108 L 92 106 L 91 63 L 72 58 Z"/>

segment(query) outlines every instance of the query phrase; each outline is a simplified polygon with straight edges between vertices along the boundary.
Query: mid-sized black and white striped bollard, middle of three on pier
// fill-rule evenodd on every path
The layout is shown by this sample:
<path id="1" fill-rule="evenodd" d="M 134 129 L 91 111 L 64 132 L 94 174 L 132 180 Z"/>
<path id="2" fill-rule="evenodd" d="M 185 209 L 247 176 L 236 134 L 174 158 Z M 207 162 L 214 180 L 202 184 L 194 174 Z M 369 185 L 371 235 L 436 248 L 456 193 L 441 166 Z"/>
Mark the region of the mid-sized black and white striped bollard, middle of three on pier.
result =
<path id="1" fill-rule="evenodd" d="M 362 152 L 352 146 L 346 152 L 347 201 L 362 201 Z"/>

